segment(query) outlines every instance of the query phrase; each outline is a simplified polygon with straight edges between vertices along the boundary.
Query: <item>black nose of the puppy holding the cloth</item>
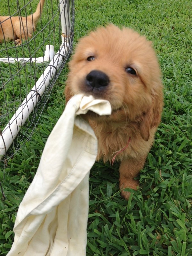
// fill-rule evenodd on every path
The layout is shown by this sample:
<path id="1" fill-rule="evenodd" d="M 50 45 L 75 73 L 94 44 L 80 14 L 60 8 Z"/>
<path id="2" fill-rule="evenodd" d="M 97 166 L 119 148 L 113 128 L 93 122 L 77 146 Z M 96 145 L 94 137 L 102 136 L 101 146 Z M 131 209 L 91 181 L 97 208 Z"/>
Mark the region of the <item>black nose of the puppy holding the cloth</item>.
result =
<path id="1" fill-rule="evenodd" d="M 109 84 L 109 78 L 102 71 L 92 70 L 86 76 L 86 84 L 92 87 L 92 89 L 101 89 Z"/>

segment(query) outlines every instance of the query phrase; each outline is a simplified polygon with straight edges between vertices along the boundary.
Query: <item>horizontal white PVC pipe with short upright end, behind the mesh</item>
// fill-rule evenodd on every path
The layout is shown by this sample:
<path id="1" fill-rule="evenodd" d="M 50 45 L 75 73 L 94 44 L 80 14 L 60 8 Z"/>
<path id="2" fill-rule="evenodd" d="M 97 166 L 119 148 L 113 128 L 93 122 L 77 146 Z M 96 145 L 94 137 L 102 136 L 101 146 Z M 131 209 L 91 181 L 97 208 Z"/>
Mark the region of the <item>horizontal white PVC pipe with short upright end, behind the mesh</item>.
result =
<path id="1" fill-rule="evenodd" d="M 36 62 L 36 63 L 42 63 L 44 61 L 51 61 L 54 57 L 54 46 L 53 45 L 46 45 L 45 46 L 45 52 L 44 57 L 38 57 L 38 58 L 0 58 L 1 62 L 5 63 L 26 63 L 26 62 Z"/>

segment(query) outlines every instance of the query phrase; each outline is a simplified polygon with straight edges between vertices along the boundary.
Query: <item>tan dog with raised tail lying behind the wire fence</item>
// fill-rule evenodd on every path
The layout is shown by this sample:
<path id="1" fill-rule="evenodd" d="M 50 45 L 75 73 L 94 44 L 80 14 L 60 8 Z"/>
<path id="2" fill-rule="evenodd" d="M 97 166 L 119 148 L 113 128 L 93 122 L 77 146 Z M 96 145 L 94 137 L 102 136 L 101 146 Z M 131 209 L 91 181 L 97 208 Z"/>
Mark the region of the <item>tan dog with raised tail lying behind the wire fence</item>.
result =
<path id="1" fill-rule="evenodd" d="M 15 40 L 15 43 L 20 45 L 22 43 L 21 38 L 27 40 L 28 37 L 32 37 L 32 33 L 36 29 L 36 23 L 43 11 L 44 2 L 45 0 L 40 0 L 36 12 L 28 17 L 0 16 L 0 43 L 3 40 Z"/>

